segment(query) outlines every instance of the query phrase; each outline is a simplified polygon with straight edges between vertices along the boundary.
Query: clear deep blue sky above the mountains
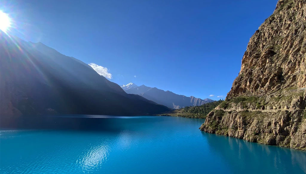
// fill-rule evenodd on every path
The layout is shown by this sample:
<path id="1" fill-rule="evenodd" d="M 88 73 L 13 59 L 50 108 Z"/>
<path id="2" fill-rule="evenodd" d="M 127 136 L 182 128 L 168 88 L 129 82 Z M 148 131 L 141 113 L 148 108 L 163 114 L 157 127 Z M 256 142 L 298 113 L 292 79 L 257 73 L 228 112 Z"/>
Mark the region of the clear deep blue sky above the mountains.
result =
<path id="1" fill-rule="evenodd" d="M 0 10 L 13 18 L 12 34 L 94 63 L 119 85 L 218 100 L 229 92 L 250 37 L 276 3 L 0 0 Z"/>

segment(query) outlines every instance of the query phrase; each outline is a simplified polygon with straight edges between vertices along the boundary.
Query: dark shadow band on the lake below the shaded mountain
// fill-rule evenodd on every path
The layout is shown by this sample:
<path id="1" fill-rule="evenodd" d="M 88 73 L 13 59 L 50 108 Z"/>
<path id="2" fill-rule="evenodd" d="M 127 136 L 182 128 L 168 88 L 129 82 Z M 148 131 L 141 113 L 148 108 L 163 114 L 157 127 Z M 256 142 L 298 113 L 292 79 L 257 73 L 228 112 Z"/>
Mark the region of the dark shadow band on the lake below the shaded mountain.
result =
<path id="1" fill-rule="evenodd" d="M 150 118 L 150 116 L 145 116 Z M 123 119 L 126 118 L 126 119 Z M 62 116 L 21 116 L 0 117 L 0 128 L 5 129 L 54 129 L 80 131 L 120 132 L 130 129 L 137 119 L 137 124 L 152 123 L 155 119 L 141 119 L 142 116 L 107 116 L 107 115 L 62 115 Z M 153 117 L 151 117 L 153 118 Z"/>

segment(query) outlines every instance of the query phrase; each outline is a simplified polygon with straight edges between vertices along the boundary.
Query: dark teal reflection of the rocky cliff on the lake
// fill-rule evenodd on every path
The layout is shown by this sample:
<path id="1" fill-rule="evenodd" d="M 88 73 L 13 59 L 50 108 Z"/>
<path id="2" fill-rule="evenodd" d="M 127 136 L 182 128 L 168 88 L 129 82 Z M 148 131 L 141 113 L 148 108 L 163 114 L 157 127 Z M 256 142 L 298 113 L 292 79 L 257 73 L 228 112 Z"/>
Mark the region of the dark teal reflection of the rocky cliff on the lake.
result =
<path id="1" fill-rule="evenodd" d="M 285 147 L 251 143 L 237 138 L 202 132 L 210 150 L 219 154 L 233 170 L 251 173 L 290 173 L 299 169 L 306 173 L 306 152 Z M 248 165 L 252 162 L 252 166 Z M 273 166 L 273 168 L 271 168 Z"/>

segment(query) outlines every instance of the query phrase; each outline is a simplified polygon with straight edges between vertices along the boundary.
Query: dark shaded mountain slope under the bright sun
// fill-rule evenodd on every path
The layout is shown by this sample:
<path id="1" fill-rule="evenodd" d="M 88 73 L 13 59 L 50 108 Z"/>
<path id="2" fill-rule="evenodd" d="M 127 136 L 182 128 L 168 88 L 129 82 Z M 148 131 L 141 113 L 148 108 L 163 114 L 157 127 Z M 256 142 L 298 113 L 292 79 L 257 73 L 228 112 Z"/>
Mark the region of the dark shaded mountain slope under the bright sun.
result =
<path id="1" fill-rule="evenodd" d="M 1 116 L 37 114 L 140 115 L 169 108 L 121 87 L 89 65 L 42 43 L 1 32 Z"/>

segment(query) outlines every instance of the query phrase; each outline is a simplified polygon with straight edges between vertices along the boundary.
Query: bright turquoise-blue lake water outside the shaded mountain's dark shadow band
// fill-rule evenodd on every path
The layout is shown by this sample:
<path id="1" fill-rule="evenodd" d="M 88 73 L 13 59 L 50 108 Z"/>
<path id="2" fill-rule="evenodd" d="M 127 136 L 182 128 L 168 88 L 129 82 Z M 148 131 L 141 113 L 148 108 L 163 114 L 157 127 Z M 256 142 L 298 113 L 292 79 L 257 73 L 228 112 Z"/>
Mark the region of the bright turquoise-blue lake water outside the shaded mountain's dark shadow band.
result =
<path id="1" fill-rule="evenodd" d="M 99 119 L 106 129 L 1 131 L 0 173 L 306 173 L 306 152 L 201 132 L 203 119 Z"/>

